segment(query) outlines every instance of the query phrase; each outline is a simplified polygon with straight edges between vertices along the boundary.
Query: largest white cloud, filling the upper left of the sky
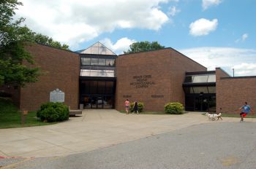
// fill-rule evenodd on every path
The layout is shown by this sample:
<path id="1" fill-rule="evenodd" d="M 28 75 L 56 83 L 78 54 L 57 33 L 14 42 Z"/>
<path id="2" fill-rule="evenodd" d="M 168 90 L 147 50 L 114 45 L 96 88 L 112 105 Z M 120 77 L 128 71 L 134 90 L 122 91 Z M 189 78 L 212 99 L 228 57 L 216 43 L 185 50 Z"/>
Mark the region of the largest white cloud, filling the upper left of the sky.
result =
<path id="1" fill-rule="evenodd" d="M 169 18 L 159 7 L 168 0 L 21 0 L 16 17 L 33 31 L 75 45 L 117 28 L 159 30 Z"/>

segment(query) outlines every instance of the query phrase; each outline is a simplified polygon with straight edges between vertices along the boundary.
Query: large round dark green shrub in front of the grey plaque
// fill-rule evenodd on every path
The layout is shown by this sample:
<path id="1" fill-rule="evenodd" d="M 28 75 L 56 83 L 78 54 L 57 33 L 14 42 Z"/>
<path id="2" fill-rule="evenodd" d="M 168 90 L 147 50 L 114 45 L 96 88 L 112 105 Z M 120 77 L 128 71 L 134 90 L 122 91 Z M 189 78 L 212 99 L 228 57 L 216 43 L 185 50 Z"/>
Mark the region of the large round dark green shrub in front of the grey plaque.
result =
<path id="1" fill-rule="evenodd" d="M 37 111 L 37 117 L 42 121 L 61 122 L 69 119 L 69 108 L 63 103 L 43 103 Z"/>

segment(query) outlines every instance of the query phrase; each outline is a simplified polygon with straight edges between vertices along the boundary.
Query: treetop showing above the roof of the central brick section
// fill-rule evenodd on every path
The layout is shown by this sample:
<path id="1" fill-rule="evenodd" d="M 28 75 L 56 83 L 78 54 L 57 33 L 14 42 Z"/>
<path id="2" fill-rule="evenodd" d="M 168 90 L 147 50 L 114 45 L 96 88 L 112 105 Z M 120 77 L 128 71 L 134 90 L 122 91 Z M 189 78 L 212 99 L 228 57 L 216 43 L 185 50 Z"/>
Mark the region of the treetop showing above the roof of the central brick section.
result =
<path id="1" fill-rule="evenodd" d="M 134 53 L 134 52 L 145 52 L 150 50 L 160 50 L 165 48 L 165 46 L 160 45 L 158 42 L 135 42 L 129 45 L 129 50 L 124 51 L 124 53 Z"/>

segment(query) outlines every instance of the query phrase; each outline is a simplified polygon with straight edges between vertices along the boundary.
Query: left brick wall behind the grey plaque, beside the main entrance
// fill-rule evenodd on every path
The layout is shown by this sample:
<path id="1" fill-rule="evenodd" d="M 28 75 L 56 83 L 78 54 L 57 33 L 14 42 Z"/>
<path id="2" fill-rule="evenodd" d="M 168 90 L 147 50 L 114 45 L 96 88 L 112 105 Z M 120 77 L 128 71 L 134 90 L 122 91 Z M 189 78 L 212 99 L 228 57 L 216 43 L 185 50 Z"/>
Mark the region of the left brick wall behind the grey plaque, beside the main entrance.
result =
<path id="1" fill-rule="evenodd" d="M 59 50 L 41 44 L 27 47 L 34 55 L 43 74 L 39 81 L 20 89 L 20 109 L 37 110 L 41 103 L 50 101 L 50 91 L 65 93 L 65 104 L 78 109 L 80 57 L 75 52 Z"/>

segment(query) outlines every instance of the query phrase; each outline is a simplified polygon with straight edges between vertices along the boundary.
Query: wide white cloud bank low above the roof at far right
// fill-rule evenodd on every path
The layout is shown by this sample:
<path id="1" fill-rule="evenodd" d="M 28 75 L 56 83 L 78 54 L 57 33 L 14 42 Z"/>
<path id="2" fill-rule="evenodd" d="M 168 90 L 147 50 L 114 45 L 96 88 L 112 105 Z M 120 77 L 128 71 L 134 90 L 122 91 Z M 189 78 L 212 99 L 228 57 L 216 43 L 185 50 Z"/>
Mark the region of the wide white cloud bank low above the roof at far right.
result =
<path id="1" fill-rule="evenodd" d="M 224 68 L 232 75 L 235 68 L 236 76 L 256 76 L 256 50 L 231 47 L 197 47 L 179 50 L 208 70 L 216 67 Z"/>

